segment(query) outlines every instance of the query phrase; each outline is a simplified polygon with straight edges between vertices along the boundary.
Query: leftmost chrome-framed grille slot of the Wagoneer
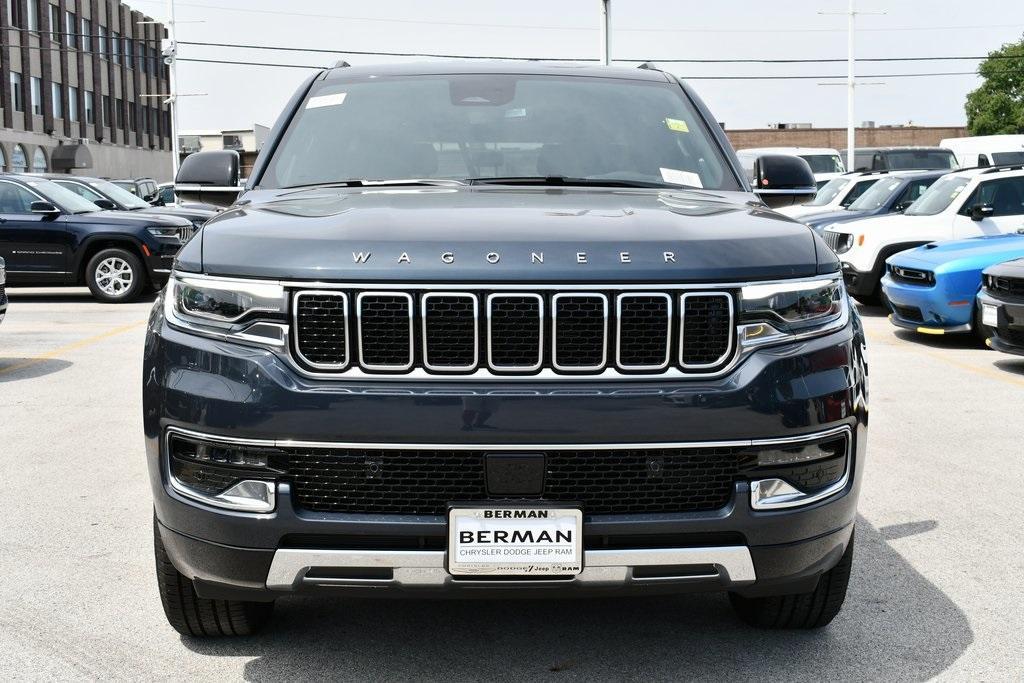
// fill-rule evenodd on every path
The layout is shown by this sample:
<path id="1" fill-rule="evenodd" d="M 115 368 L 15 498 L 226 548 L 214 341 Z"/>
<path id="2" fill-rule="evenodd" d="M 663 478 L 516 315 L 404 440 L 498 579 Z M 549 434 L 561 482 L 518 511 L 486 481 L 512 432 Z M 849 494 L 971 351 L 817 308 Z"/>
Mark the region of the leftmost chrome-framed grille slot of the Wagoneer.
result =
<path id="1" fill-rule="evenodd" d="M 348 365 L 348 295 L 296 292 L 295 351 L 310 368 L 341 370 Z"/>

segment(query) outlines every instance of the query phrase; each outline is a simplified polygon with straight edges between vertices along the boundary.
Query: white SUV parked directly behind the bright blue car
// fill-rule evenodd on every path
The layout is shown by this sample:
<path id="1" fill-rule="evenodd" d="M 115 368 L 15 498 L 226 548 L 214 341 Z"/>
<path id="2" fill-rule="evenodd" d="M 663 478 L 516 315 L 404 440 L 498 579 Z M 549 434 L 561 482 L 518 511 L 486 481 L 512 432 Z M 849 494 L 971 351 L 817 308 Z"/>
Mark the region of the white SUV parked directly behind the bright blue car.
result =
<path id="1" fill-rule="evenodd" d="M 877 302 L 886 259 L 930 242 L 1024 228 L 1024 166 L 954 171 L 942 176 L 902 214 L 825 225 L 822 237 L 843 262 L 846 288 Z"/>

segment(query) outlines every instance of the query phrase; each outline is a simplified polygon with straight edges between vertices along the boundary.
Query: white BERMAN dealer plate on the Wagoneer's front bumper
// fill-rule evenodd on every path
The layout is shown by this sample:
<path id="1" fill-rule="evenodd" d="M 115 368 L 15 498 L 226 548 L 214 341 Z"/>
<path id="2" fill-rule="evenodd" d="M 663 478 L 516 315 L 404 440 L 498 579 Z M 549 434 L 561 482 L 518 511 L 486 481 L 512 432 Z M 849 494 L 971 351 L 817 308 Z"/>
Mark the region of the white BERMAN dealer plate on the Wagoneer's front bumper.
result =
<path id="1" fill-rule="evenodd" d="M 454 575 L 572 575 L 583 570 L 578 508 L 459 508 L 449 511 Z"/>

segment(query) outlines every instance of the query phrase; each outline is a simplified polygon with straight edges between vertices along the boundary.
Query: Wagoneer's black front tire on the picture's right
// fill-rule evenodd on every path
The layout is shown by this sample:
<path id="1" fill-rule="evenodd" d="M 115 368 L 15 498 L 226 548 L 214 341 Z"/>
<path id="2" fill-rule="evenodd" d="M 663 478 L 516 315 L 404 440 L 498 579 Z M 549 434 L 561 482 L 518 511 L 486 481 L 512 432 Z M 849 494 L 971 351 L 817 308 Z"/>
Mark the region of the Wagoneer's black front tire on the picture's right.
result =
<path id="1" fill-rule="evenodd" d="M 729 601 L 741 620 L 759 629 L 820 629 L 836 618 L 843 608 L 852 566 L 851 536 L 839 564 L 821 574 L 817 587 L 810 593 L 763 598 L 730 593 Z"/>

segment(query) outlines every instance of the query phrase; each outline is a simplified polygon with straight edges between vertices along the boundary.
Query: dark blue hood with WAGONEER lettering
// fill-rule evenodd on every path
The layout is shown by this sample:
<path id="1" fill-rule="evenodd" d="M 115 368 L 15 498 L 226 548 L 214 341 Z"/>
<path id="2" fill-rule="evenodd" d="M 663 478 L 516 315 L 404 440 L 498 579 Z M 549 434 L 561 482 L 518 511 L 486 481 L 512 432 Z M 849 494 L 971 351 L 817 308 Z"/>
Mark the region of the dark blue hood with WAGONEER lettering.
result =
<path id="1" fill-rule="evenodd" d="M 750 199 L 742 193 L 565 187 L 255 190 L 211 219 L 178 267 L 376 282 L 727 282 L 816 274 L 818 250 L 830 254 L 823 243 Z M 822 258 L 829 271 L 837 267 Z"/>

